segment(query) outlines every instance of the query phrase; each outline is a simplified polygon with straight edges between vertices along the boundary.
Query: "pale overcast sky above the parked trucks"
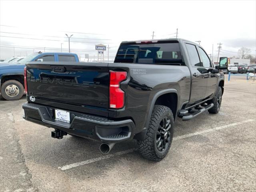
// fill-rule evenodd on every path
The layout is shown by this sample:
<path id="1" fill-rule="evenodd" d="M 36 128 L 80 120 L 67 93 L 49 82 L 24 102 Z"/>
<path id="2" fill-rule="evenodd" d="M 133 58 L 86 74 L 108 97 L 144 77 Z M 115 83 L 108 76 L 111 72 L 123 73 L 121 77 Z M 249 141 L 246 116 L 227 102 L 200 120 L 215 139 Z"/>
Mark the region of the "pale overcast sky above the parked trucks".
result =
<path id="1" fill-rule="evenodd" d="M 125 40 L 178 38 L 201 41 L 208 54 L 236 56 L 256 50 L 256 1 L 7 1 L 0 0 L 0 58 L 33 51 L 97 55 L 95 44 L 110 46 L 114 58 Z M 9 36 L 9 37 L 6 37 Z M 16 38 L 15 38 L 16 37 Z M 80 39 L 79 39 L 80 38 Z M 76 41 L 76 42 L 75 42 Z M 11 46 L 11 47 L 10 47 Z M 15 47 L 15 49 L 13 48 Z M 57 48 L 57 50 L 54 50 Z M 106 52 L 105 52 L 106 53 Z M 105 54 L 106 57 L 106 54 Z"/>

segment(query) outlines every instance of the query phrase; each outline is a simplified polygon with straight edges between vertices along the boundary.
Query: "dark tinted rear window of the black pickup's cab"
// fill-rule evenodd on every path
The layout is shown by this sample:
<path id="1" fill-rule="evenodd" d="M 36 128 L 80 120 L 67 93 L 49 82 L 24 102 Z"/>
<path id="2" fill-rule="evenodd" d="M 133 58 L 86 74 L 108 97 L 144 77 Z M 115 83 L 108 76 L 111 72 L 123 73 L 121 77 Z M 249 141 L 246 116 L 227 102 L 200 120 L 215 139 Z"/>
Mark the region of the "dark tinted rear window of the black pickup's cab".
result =
<path id="1" fill-rule="evenodd" d="M 115 62 L 143 64 L 182 64 L 178 43 L 121 45 Z"/>

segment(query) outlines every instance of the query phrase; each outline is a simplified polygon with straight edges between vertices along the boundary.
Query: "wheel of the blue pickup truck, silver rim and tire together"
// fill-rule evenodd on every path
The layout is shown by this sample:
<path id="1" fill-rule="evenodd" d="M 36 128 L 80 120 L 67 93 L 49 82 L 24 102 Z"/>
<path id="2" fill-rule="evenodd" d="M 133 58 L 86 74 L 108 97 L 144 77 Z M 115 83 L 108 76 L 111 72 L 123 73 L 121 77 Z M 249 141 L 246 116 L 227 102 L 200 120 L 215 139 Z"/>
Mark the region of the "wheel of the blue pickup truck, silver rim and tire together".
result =
<path id="1" fill-rule="evenodd" d="M 6 100 L 18 100 L 24 94 L 23 85 L 16 80 L 8 80 L 1 86 L 1 95 Z"/>

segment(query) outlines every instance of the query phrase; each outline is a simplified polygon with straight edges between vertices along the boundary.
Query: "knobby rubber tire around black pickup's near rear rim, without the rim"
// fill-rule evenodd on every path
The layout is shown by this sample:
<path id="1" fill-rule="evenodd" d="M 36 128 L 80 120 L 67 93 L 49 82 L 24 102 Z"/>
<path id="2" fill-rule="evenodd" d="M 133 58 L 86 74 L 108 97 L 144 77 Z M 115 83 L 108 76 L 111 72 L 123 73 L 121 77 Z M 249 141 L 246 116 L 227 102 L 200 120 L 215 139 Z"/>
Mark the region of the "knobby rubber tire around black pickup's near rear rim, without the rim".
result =
<path id="1" fill-rule="evenodd" d="M 158 132 L 160 122 L 164 119 L 164 117 L 167 117 L 170 119 L 170 125 L 171 125 L 169 129 L 170 142 L 168 142 L 168 146 L 164 149 L 164 151 L 159 151 L 156 146 L 156 135 Z M 138 149 L 140 154 L 144 158 L 151 161 L 162 160 L 168 153 L 170 146 L 172 144 L 173 132 L 174 132 L 174 118 L 173 118 L 172 110 L 166 106 L 155 105 L 150 118 L 150 123 L 148 126 L 148 130 L 146 132 L 146 136 L 144 140 L 138 140 Z"/>

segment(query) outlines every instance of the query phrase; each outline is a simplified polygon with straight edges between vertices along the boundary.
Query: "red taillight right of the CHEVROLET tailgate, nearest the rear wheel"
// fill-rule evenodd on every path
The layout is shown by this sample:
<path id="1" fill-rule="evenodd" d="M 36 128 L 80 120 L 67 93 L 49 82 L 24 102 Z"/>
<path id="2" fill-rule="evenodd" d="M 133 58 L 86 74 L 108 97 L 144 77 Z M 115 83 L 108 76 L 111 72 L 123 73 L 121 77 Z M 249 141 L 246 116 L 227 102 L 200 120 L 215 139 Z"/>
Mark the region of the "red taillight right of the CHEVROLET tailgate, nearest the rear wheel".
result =
<path id="1" fill-rule="evenodd" d="M 120 82 L 127 78 L 126 72 L 110 71 L 109 106 L 120 109 L 124 107 L 124 92 L 120 89 Z"/>

